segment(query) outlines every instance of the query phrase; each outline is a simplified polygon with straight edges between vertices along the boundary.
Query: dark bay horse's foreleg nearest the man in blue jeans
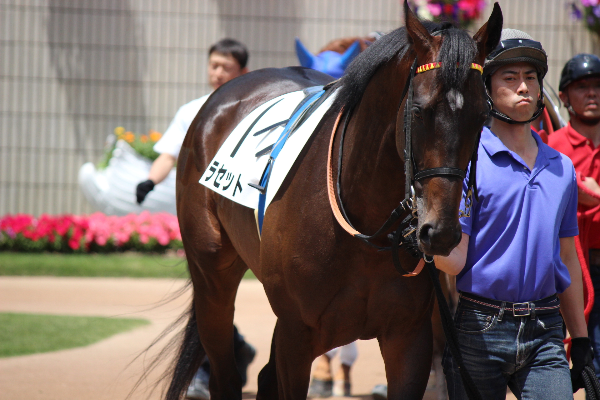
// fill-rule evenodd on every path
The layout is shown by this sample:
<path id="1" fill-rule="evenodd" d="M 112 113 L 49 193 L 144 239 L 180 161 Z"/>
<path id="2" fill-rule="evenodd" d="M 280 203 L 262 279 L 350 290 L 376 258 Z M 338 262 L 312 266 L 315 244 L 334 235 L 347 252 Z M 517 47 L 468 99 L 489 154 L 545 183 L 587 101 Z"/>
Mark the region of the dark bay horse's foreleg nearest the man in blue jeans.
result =
<path id="1" fill-rule="evenodd" d="M 431 320 L 379 338 L 389 400 L 422 399 L 431 370 Z M 400 331 L 400 332 L 398 332 Z"/>

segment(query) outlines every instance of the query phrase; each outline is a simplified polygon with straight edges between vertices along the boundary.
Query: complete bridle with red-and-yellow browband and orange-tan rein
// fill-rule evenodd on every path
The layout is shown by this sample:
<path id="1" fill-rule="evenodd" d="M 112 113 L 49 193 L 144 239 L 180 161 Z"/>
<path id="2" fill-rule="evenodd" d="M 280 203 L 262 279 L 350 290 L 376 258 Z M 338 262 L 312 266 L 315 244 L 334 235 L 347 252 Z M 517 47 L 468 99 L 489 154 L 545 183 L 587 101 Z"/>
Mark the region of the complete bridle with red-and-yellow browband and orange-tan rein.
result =
<path id="1" fill-rule="evenodd" d="M 403 276 L 415 276 L 421 272 L 422 267 L 424 266 L 425 261 L 427 260 L 427 256 L 424 254 L 423 259 L 419 261 L 419 264 L 416 266 L 413 272 L 407 272 L 400 265 L 400 258 L 398 257 L 398 248 L 400 245 L 406 243 L 404 240 L 416 231 L 416 220 L 417 220 L 417 205 L 416 205 L 416 194 L 413 188 L 415 181 L 420 181 L 421 179 L 431 178 L 433 176 L 448 176 L 452 178 L 460 178 L 463 180 L 466 178 L 466 172 L 457 167 L 434 167 L 421 170 L 420 172 L 413 173 L 413 166 L 416 164 L 414 161 L 414 157 L 412 154 L 412 117 L 408 118 L 409 109 L 412 110 L 412 100 L 413 100 L 413 78 L 415 74 L 424 73 L 425 71 L 433 70 L 435 68 L 442 67 L 441 62 L 432 62 L 430 64 L 421 65 L 421 67 L 416 67 L 417 59 L 412 64 L 410 68 L 409 76 L 406 81 L 406 85 L 404 85 L 404 89 L 402 95 L 400 97 L 400 104 L 398 104 L 398 112 L 400 112 L 400 107 L 402 105 L 402 101 L 404 100 L 404 96 L 408 94 L 406 100 L 406 106 L 404 107 L 404 138 L 405 138 L 405 146 L 404 146 L 404 173 L 406 174 L 406 190 L 404 194 L 404 200 L 400 202 L 398 207 L 396 207 L 387 221 L 385 221 L 382 227 L 376 231 L 376 233 L 371 235 L 366 235 L 360 233 L 356 230 L 352 223 L 350 223 L 349 218 L 346 215 L 346 210 L 344 210 L 344 206 L 341 203 L 341 164 L 342 164 L 342 154 L 343 154 L 343 145 L 344 145 L 344 136 L 346 134 L 346 128 L 350 119 L 350 115 L 352 114 L 352 109 L 346 113 L 346 118 L 344 118 L 344 124 L 340 133 L 340 150 L 338 154 L 338 173 L 337 173 L 337 190 L 334 187 L 333 180 L 333 167 L 332 167 L 332 158 L 333 158 L 333 146 L 335 142 L 335 132 L 337 131 L 338 125 L 341 120 L 341 116 L 344 114 L 344 108 L 340 110 L 337 118 L 335 119 L 334 127 L 331 131 L 331 138 L 329 139 L 329 152 L 327 157 L 327 191 L 329 197 L 329 205 L 331 206 L 331 210 L 334 213 L 335 219 L 338 221 L 338 224 L 347 231 L 347 233 L 352 234 L 352 236 L 358 237 L 363 240 L 370 246 L 377 248 L 379 250 L 391 250 L 392 251 L 392 260 L 394 261 L 394 266 Z M 483 73 L 483 67 L 479 64 L 472 63 L 470 68 L 473 70 L 478 70 L 479 73 Z M 477 163 L 477 151 L 479 148 L 479 138 L 481 137 L 481 130 L 479 131 L 475 148 L 473 149 L 473 154 L 471 156 L 470 162 L 470 170 L 469 170 L 469 183 L 467 185 L 467 196 L 464 201 L 464 211 L 460 210 L 459 218 L 462 216 L 470 216 L 470 209 L 473 204 L 473 194 L 475 195 L 475 199 L 478 200 L 477 186 L 475 181 L 476 176 L 476 163 Z M 340 197 L 340 203 L 338 204 L 337 197 Z M 400 226 L 397 228 L 392 238 L 392 245 L 390 247 L 382 247 L 378 246 L 371 242 L 371 239 L 374 239 L 377 236 L 385 233 L 389 230 L 389 228 L 394 225 L 394 222 L 398 221 L 401 216 L 405 216 Z M 392 236 L 392 235 L 389 235 Z M 432 258 L 433 260 L 433 258 Z"/>

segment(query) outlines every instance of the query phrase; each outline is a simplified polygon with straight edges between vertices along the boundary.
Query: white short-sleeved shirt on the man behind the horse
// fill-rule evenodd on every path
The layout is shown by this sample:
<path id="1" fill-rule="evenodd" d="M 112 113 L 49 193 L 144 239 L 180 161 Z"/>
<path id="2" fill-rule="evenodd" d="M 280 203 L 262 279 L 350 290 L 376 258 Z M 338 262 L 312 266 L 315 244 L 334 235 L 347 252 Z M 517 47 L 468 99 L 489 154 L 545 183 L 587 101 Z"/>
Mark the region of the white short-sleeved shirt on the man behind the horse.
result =
<path id="1" fill-rule="evenodd" d="M 175 117 L 173 117 L 173 121 L 169 125 L 169 128 L 163 134 L 163 137 L 156 142 L 154 145 L 154 151 L 163 154 L 168 153 L 173 157 L 179 157 L 179 151 L 181 150 L 181 145 L 184 142 L 185 134 L 187 134 L 188 129 L 190 128 L 191 122 L 196 118 L 197 113 L 202 108 L 203 104 L 206 102 L 206 99 L 211 94 L 207 94 L 196 100 L 190 101 L 190 103 L 184 104 L 179 107 Z"/>

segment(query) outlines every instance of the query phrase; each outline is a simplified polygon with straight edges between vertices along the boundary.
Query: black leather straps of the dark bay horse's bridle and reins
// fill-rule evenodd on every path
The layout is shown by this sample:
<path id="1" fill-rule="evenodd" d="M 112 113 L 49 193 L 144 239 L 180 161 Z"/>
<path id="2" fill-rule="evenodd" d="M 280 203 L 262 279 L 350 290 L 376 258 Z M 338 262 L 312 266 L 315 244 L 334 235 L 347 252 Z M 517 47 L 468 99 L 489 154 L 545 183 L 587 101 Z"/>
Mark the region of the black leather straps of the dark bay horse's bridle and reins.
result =
<path id="1" fill-rule="evenodd" d="M 400 264 L 400 258 L 398 257 L 398 248 L 401 245 L 408 243 L 409 239 L 407 239 L 412 233 L 416 231 L 417 226 L 417 204 L 416 204 L 416 194 L 414 190 L 414 184 L 416 181 L 420 181 L 421 179 L 431 178 L 433 176 L 448 176 L 451 178 L 460 178 L 463 180 L 466 178 L 466 172 L 457 167 L 434 167 L 428 168 L 421 171 L 418 171 L 416 168 L 415 157 L 413 155 L 412 150 L 412 116 L 409 115 L 409 112 L 412 112 L 412 101 L 413 101 L 413 79 L 416 75 L 417 68 L 417 59 L 410 67 L 409 76 L 407 77 L 406 84 L 404 85 L 404 89 L 402 91 L 402 95 L 400 97 L 400 104 L 398 104 L 398 110 L 396 115 L 400 113 L 400 107 L 402 106 L 402 102 L 404 97 L 407 95 L 406 106 L 404 107 L 404 173 L 406 175 L 406 185 L 404 191 L 404 200 L 400 202 L 398 207 L 396 207 L 392 212 L 389 218 L 383 223 L 382 227 L 380 227 L 374 234 L 365 235 L 362 233 L 355 234 L 356 237 L 363 240 L 370 246 L 379 249 L 380 251 L 391 251 L 392 252 L 392 260 L 394 261 L 395 269 L 400 272 L 402 275 L 407 275 L 409 272 L 404 270 L 404 268 Z M 354 228 L 352 222 L 350 222 L 346 210 L 344 209 L 344 204 L 341 201 L 341 166 L 342 166 L 342 157 L 343 157 L 343 147 L 344 147 L 344 136 L 346 135 L 346 129 L 348 127 L 348 123 L 350 121 L 350 115 L 352 115 L 352 109 L 350 109 L 346 113 L 346 117 L 344 118 L 344 124 L 342 126 L 341 134 L 340 134 L 340 149 L 338 151 L 338 171 L 337 171 L 337 185 L 336 185 L 336 194 L 338 199 L 340 199 L 340 211 L 343 215 L 346 222 Z M 467 196 L 464 201 L 464 211 L 460 211 L 460 217 L 462 216 L 470 216 L 470 208 L 473 204 L 473 196 L 476 200 L 479 200 L 477 185 L 476 185 L 476 165 L 477 165 L 477 151 L 479 148 L 479 139 L 481 137 L 481 130 L 476 138 L 475 146 L 473 149 L 473 153 L 471 155 L 470 161 L 470 170 L 469 170 L 469 182 L 467 184 Z M 415 173 L 415 171 L 417 171 Z M 392 243 L 391 246 L 379 246 L 375 243 L 371 242 L 372 239 L 381 236 L 386 233 L 392 225 L 398 219 L 404 217 L 401 224 L 398 226 L 397 230 L 391 236 Z M 423 254 L 425 261 L 430 262 L 426 257 L 427 255 Z M 433 258 L 431 258 L 433 260 Z"/>

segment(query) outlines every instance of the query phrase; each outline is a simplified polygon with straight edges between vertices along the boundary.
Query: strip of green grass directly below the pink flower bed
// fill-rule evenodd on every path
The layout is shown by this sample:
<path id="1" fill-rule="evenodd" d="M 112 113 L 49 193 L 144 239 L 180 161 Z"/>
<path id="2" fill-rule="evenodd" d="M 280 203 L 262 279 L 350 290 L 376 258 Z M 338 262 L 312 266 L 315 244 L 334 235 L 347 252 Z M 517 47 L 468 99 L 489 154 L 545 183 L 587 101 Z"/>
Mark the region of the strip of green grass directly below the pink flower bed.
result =
<path id="1" fill-rule="evenodd" d="M 168 255 L 0 252 L 0 275 L 188 278 L 189 273 L 183 258 Z M 248 270 L 244 278 L 256 277 Z"/>

